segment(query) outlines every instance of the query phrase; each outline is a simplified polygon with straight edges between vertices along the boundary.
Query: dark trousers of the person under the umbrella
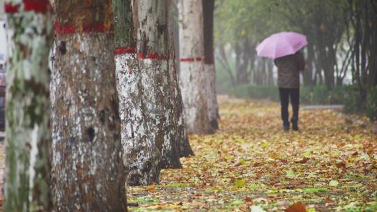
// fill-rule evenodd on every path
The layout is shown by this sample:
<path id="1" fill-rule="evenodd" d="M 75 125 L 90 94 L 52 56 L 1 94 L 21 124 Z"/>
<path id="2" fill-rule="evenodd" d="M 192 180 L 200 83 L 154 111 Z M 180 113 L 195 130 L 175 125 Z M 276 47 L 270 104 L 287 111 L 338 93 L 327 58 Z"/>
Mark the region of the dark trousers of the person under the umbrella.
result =
<path id="1" fill-rule="evenodd" d="M 289 105 L 289 96 L 290 103 L 292 104 L 293 116 L 290 121 L 292 123 L 297 123 L 298 121 L 298 111 L 300 105 L 300 89 L 283 89 L 279 88 L 280 93 L 280 104 L 281 104 L 281 119 L 285 126 L 289 125 L 288 122 L 288 105 Z"/>

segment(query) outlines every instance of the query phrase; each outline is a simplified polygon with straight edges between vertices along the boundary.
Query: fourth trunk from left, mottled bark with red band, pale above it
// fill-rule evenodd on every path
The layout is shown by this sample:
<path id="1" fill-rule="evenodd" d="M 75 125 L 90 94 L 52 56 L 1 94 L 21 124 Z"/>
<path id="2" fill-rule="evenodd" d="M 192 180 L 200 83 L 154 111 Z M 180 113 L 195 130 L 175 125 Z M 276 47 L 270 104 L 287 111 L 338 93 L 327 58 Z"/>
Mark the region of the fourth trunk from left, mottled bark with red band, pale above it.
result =
<path id="1" fill-rule="evenodd" d="M 179 96 L 169 0 L 138 1 L 138 59 L 145 86 L 148 126 L 161 152 L 161 168 L 179 168 L 179 144 L 188 142 Z"/>

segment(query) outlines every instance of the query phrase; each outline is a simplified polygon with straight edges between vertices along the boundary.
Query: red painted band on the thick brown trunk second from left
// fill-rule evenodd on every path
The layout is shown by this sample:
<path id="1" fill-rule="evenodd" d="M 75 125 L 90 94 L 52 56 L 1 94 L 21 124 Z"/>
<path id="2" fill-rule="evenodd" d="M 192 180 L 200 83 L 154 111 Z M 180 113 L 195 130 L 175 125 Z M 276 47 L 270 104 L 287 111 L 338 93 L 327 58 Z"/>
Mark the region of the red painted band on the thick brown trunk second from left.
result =
<path id="1" fill-rule="evenodd" d="M 80 33 L 77 30 L 77 27 L 73 26 L 73 24 L 59 24 L 55 23 L 55 33 L 56 34 L 73 34 L 73 33 Z M 91 25 L 84 25 L 82 27 L 82 33 L 105 33 L 105 32 L 112 32 L 112 27 L 110 29 L 106 29 L 105 24 L 91 24 Z"/>

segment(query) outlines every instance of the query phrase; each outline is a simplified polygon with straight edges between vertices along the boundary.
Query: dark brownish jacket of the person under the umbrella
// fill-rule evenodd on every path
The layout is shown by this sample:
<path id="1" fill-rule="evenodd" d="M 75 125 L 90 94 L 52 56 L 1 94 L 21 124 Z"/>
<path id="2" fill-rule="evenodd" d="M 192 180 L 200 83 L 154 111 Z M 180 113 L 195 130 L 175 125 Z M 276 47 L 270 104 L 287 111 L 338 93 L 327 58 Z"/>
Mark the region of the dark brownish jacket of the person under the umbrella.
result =
<path id="1" fill-rule="evenodd" d="M 278 68 L 279 88 L 300 88 L 300 70 L 305 68 L 305 59 L 302 52 L 276 58 L 274 63 Z"/>

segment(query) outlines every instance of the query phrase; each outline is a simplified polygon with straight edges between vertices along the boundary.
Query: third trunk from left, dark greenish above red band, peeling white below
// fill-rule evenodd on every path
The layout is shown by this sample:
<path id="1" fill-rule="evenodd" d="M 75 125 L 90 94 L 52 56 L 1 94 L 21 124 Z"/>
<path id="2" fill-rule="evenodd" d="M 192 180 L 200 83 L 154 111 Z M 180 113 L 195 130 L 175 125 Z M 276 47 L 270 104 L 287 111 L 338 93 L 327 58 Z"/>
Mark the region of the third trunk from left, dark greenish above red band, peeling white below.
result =
<path id="1" fill-rule="evenodd" d="M 131 1 L 113 0 L 115 24 L 115 66 L 121 118 L 121 141 L 128 185 L 158 182 L 161 151 L 154 145 L 154 128 L 144 100 L 147 70 L 138 66 Z"/>

